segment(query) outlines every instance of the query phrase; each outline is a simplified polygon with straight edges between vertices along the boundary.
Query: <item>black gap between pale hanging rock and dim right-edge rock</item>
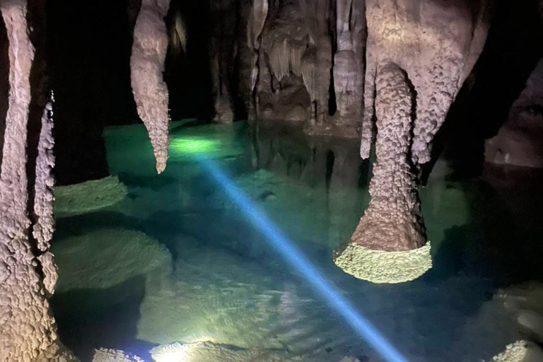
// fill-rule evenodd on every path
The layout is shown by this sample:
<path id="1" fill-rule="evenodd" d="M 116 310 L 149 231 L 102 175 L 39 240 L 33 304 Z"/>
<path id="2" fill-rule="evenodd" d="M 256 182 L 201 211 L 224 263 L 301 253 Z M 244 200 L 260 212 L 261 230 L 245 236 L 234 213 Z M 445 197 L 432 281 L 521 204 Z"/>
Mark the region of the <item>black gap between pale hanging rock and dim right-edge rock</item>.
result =
<path id="1" fill-rule="evenodd" d="M 484 50 L 445 124 L 436 135 L 433 160 L 445 151 L 458 177 L 480 175 L 484 140 L 508 119 L 513 102 L 534 71 L 543 48 L 543 20 L 537 0 L 498 0 Z M 433 163 L 426 165 L 429 173 Z"/>

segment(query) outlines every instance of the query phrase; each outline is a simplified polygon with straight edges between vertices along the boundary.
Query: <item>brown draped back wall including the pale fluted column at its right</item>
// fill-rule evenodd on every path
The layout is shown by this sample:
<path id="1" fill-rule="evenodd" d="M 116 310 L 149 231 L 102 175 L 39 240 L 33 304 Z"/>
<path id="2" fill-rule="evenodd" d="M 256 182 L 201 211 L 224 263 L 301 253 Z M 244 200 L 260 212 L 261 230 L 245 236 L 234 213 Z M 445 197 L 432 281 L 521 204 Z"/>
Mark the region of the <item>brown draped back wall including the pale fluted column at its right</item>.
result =
<path id="1" fill-rule="evenodd" d="M 250 119 L 303 122 L 309 134 L 358 137 L 364 1 L 255 0 L 241 9 L 247 35 L 238 42 L 238 90 Z"/>

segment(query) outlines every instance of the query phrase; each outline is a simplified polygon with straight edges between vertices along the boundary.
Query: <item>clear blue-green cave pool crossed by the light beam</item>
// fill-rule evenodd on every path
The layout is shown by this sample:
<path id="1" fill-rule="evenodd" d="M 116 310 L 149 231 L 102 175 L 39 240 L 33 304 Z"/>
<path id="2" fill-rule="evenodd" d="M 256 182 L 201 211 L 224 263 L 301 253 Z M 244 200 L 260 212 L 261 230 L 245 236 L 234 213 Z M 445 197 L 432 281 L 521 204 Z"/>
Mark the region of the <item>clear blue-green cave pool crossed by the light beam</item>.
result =
<path id="1" fill-rule="evenodd" d="M 540 175 L 505 182 L 500 170 L 487 170 L 460 180 L 438 160 L 421 189 L 433 269 L 407 284 L 375 285 L 332 262 L 369 199 L 370 170 L 356 158 L 356 142 L 243 123 L 180 121 L 170 128 L 162 175 L 144 127 L 106 129 L 110 172 L 127 197 L 57 219 L 52 305 L 62 339 L 83 359 L 99 346 L 149 358 L 146 351 L 158 344 L 214 341 L 304 361 L 383 361 L 269 247 L 202 157 L 409 361 L 488 360 L 526 337 L 516 322 L 520 307 L 504 298 L 514 286 L 524 300 L 518 290 L 542 280 L 543 197 L 533 192 Z"/>

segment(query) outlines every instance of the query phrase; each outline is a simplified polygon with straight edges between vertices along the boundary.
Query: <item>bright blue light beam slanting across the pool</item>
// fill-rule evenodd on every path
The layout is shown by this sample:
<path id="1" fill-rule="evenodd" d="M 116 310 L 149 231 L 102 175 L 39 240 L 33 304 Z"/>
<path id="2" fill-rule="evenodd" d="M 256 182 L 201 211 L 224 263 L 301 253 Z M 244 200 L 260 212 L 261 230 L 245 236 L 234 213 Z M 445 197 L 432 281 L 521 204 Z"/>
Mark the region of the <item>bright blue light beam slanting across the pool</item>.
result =
<path id="1" fill-rule="evenodd" d="M 306 281 L 313 286 L 315 291 L 319 293 L 325 300 L 337 311 L 339 315 L 344 317 L 346 322 L 358 332 L 368 344 L 373 346 L 383 358 L 389 362 L 409 362 L 407 358 L 395 349 L 380 332 L 371 325 L 371 323 L 363 317 L 358 311 L 347 301 L 337 288 L 332 283 L 327 281 L 320 271 L 289 241 L 281 230 L 274 226 L 269 219 L 262 214 L 262 211 L 257 209 L 257 206 L 243 194 L 243 192 L 226 176 L 223 171 L 218 168 L 212 160 L 207 158 L 199 158 L 199 162 L 214 179 L 220 184 L 228 197 L 233 199 L 252 223 L 258 226 L 271 245 L 292 265 L 298 269 L 304 276 Z"/>

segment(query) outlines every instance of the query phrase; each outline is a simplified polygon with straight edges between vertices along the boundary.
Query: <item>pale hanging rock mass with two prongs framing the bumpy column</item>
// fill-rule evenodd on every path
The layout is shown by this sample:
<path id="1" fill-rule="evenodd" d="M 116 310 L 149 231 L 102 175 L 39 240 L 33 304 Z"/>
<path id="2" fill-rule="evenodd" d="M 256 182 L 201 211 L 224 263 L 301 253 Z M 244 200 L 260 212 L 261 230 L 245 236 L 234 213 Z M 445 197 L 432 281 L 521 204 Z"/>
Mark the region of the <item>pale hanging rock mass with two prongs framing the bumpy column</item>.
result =
<path id="1" fill-rule="evenodd" d="M 430 144 L 488 33 L 486 0 L 367 0 L 368 42 L 361 156 L 368 158 L 377 71 L 394 62 L 407 72 L 416 94 L 411 154 L 431 158 Z"/>

